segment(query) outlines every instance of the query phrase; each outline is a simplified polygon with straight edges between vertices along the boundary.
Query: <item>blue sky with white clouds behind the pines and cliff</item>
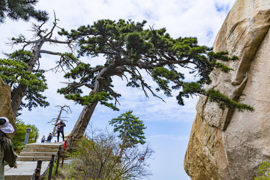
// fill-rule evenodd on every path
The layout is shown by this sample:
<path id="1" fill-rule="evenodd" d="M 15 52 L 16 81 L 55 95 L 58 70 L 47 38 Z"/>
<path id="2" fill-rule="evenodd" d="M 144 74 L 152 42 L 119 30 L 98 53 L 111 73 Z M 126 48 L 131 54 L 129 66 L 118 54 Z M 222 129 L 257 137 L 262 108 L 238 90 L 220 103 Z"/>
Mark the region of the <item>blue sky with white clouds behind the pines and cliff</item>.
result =
<path id="1" fill-rule="evenodd" d="M 47 10 L 50 20 L 45 24 L 48 28 L 52 24 L 53 10 L 60 20 L 58 26 L 65 29 L 77 28 L 82 24 L 91 24 L 93 21 L 102 18 L 113 20 L 132 19 L 134 21 L 147 20 L 148 25 L 154 28 L 166 27 L 167 32 L 174 38 L 179 36 L 196 36 L 201 45 L 211 46 L 214 38 L 225 19 L 225 16 L 234 0 L 40 0 L 37 8 Z M 21 46 L 6 46 L 6 37 L 16 36 L 19 33 L 31 37 L 30 22 L 6 20 L 0 25 L 0 50 L 1 52 L 12 52 Z M 56 34 L 55 34 L 56 35 Z M 43 49 L 66 51 L 65 46 L 49 46 L 45 44 Z M 0 57 L 4 57 L 0 54 Z M 57 56 L 43 54 L 40 63 L 44 69 L 49 69 L 57 59 Z M 84 57 L 83 60 L 91 64 L 103 62 L 102 56 L 92 59 Z M 49 107 L 37 107 L 32 111 L 23 109 L 19 116 L 26 123 L 35 124 L 40 132 L 40 138 L 44 134 L 47 136 L 53 128 L 46 122 L 56 117 L 58 109 L 55 105 L 69 105 L 72 113 L 63 114 L 66 118 L 65 132 L 71 131 L 82 106 L 76 105 L 71 100 L 66 100 L 62 95 L 56 93 L 56 89 L 63 87 L 60 83 L 64 81 L 61 73 L 48 71 L 45 73 L 48 88 L 44 95 L 50 103 Z M 186 75 L 187 80 L 192 80 Z M 150 77 L 146 77 L 148 83 L 153 87 Z M 104 128 L 108 120 L 118 116 L 126 110 L 133 110 L 133 114 L 144 121 L 146 140 L 152 144 L 156 153 L 154 159 L 150 160 L 151 169 L 154 173 L 150 179 L 153 180 L 187 180 L 190 179 L 183 169 L 183 157 L 188 143 L 189 133 L 195 117 L 196 98 L 186 99 L 184 106 L 179 106 L 174 97 L 164 97 L 166 103 L 158 98 L 154 98 L 149 93 L 149 98 L 145 97 L 141 89 L 126 87 L 126 81 L 119 77 L 114 77 L 115 90 L 121 93 L 119 98 L 120 111 L 97 105 L 91 122 L 94 126 Z M 89 91 L 85 91 L 87 93 Z M 177 92 L 173 92 L 177 94 Z M 39 139 L 40 139 L 39 138 Z M 53 140 L 56 139 L 55 137 Z"/>

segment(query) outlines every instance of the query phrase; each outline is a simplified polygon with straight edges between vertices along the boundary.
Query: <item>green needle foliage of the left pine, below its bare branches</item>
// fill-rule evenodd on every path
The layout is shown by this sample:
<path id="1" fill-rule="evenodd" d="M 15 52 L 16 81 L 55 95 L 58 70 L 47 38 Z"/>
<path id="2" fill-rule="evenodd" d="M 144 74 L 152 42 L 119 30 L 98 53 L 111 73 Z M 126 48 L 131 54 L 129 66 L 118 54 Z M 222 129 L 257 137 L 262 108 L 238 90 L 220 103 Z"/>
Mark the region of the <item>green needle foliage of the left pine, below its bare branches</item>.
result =
<path id="1" fill-rule="evenodd" d="M 49 103 L 45 101 L 45 96 L 40 92 L 47 89 L 46 79 L 43 75 L 44 70 L 34 69 L 32 72 L 27 71 L 27 61 L 33 57 L 32 53 L 27 50 L 16 50 L 13 53 L 6 54 L 7 59 L 0 59 L 0 78 L 11 87 L 12 90 L 18 84 L 25 85 L 25 100 L 27 103 L 21 102 L 21 107 L 27 107 L 31 110 L 32 107 L 48 106 Z"/>

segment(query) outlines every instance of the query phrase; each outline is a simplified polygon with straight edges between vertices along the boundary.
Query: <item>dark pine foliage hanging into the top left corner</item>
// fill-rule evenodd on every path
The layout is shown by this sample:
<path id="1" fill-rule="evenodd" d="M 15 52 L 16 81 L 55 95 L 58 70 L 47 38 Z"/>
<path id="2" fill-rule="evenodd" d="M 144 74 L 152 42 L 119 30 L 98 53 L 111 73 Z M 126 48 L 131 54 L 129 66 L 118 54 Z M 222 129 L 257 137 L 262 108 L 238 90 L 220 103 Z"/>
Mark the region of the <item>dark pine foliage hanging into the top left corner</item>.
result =
<path id="1" fill-rule="evenodd" d="M 48 13 L 44 10 L 35 10 L 34 5 L 38 0 L 0 0 L 0 23 L 6 17 L 12 20 L 23 19 L 28 21 L 30 17 L 38 21 L 46 21 Z"/>

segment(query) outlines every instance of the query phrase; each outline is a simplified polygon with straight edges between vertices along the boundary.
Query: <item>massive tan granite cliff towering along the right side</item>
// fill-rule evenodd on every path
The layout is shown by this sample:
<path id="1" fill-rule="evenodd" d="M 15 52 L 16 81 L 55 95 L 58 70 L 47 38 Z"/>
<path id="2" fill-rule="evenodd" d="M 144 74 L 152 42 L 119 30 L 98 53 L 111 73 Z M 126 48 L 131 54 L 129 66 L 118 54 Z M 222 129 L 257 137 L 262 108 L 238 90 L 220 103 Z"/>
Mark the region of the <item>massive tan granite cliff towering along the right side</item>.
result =
<path id="1" fill-rule="evenodd" d="M 238 61 L 229 73 L 214 71 L 205 86 L 255 108 L 219 109 L 201 96 L 197 102 L 184 169 L 192 180 L 253 179 L 263 160 L 270 162 L 270 1 L 236 0 L 220 28 L 214 51 Z"/>

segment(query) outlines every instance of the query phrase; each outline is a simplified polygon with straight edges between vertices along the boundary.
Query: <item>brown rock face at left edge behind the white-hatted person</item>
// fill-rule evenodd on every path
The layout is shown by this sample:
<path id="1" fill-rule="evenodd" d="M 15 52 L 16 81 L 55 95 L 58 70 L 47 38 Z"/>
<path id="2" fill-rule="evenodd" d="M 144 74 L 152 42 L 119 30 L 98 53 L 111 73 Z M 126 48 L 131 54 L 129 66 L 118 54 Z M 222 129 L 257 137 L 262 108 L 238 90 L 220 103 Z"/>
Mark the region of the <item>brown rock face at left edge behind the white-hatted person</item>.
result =
<path id="1" fill-rule="evenodd" d="M 7 117 L 9 123 L 13 125 L 15 131 L 11 134 L 7 134 L 10 137 L 13 137 L 17 131 L 17 128 L 13 119 L 10 99 L 10 86 L 4 83 L 3 80 L 0 78 L 0 117 Z"/>

